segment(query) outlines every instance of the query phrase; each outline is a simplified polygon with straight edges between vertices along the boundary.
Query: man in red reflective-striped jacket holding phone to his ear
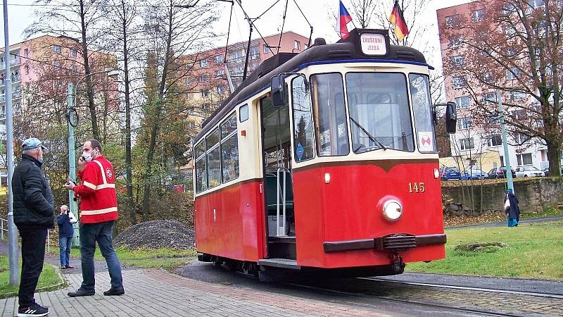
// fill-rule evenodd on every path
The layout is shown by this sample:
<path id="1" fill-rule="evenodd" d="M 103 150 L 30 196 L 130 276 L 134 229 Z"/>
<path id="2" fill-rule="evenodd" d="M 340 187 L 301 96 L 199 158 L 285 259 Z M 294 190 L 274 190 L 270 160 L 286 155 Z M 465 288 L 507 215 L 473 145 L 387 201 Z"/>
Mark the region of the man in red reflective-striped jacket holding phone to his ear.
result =
<path id="1" fill-rule="evenodd" d="M 118 199 L 115 194 L 115 175 L 110 161 L 101 154 L 101 144 L 90 139 L 82 147 L 78 161 L 80 185 L 68 182 L 65 188 L 75 191 L 80 198 L 80 255 L 82 263 L 82 285 L 70 297 L 94 295 L 94 251 L 96 242 L 108 264 L 111 278 L 106 296 L 121 295 L 123 280 L 121 266 L 113 249 L 113 224 L 118 218 Z"/>

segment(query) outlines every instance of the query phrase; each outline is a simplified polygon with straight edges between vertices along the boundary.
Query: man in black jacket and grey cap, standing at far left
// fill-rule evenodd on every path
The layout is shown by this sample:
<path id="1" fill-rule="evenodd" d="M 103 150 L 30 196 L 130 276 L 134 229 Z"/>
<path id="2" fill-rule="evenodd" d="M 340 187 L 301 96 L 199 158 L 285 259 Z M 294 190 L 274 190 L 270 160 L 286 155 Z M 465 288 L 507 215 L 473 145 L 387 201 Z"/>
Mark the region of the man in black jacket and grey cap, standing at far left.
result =
<path id="1" fill-rule="evenodd" d="M 22 238 L 18 316 L 49 314 L 49 309 L 37 304 L 33 298 L 45 259 L 47 229 L 55 227 L 53 194 L 41 170 L 44 149 L 39 139 L 26 139 L 22 159 L 12 178 L 13 222 Z"/>

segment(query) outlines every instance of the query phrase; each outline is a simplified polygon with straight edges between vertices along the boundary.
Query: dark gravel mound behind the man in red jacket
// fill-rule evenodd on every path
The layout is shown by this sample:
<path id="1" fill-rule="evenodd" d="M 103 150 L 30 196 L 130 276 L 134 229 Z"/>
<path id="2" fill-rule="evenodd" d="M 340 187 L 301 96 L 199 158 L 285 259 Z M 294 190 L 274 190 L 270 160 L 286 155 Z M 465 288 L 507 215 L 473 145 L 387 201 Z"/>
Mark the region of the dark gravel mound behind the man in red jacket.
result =
<path id="1" fill-rule="evenodd" d="M 190 249 L 195 236 L 194 230 L 177 220 L 153 220 L 127 228 L 113 244 L 128 249 Z"/>

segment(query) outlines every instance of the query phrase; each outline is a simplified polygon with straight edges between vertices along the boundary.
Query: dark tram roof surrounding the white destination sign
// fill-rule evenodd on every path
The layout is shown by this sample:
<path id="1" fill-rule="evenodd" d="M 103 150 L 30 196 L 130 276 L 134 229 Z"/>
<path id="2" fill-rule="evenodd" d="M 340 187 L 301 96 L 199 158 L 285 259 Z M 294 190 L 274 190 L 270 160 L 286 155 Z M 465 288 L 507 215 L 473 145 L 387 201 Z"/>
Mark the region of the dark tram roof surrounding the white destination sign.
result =
<path id="1" fill-rule="evenodd" d="M 363 33 L 381 34 L 386 39 L 386 54 L 383 56 L 372 56 L 362 52 L 360 36 Z M 215 127 L 236 105 L 241 104 L 254 94 L 270 86 L 270 79 L 281 73 L 292 73 L 310 65 L 320 63 L 331 63 L 335 61 L 358 62 L 398 62 L 412 63 L 415 65 L 428 66 L 424 55 L 410 46 L 389 44 L 388 30 L 354 29 L 350 36 L 341 39 L 334 44 L 326 44 L 322 38 L 315 39 L 315 43 L 301 53 L 279 53 L 258 66 L 246 80 L 227 98 L 215 112 L 203 122 L 201 132 L 195 137 L 198 142 L 205 133 Z"/>

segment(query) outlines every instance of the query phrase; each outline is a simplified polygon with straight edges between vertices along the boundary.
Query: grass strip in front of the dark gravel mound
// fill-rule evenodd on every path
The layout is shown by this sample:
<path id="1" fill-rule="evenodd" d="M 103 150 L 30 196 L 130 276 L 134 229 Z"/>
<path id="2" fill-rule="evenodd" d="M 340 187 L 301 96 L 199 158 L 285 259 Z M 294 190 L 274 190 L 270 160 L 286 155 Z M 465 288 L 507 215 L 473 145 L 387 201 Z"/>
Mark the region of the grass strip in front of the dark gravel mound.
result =
<path id="1" fill-rule="evenodd" d="M 51 249 L 54 254 L 58 254 L 58 249 Z M 164 268 L 165 270 L 171 270 L 172 268 L 177 268 L 190 261 L 196 259 L 196 250 L 174 250 L 174 249 L 125 249 L 124 247 L 115 248 L 115 252 L 118 254 L 119 261 L 124 264 L 131 266 L 139 266 L 141 268 Z M 80 256 L 80 249 L 72 248 L 70 250 L 70 256 Z M 96 253 L 94 254 L 94 259 L 99 259 L 103 261 L 103 256 L 101 255 L 100 249 L 96 248 Z M 72 265 L 72 259 L 70 259 L 70 265 Z M 74 260 L 76 261 L 76 260 Z"/>

